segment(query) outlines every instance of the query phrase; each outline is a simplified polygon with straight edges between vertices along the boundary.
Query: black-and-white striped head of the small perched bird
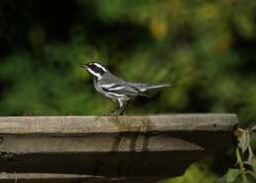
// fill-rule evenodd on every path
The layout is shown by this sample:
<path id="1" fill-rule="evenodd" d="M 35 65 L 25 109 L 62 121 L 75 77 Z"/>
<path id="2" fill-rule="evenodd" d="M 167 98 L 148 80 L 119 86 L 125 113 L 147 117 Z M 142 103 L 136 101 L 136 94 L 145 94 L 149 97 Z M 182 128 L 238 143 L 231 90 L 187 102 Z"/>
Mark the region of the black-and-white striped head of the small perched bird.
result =
<path id="1" fill-rule="evenodd" d="M 101 76 L 107 72 L 107 70 L 99 63 L 90 62 L 88 64 L 81 64 L 80 67 L 85 68 L 97 79 L 100 79 Z"/>

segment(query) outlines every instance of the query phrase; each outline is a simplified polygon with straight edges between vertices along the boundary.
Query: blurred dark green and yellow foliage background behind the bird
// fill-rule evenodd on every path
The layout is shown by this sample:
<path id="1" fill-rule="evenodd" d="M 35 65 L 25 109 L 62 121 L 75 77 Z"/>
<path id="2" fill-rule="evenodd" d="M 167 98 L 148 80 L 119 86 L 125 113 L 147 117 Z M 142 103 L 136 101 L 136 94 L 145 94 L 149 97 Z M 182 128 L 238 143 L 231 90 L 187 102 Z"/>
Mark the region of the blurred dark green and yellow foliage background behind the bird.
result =
<path id="1" fill-rule="evenodd" d="M 255 0 L 0 1 L 0 115 L 113 109 L 79 68 L 91 61 L 129 81 L 174 84 L 130 114 L 230 112 L 255 125 Z M 204 159 L 169 182 L 215 182 L 227 164 Z"/>

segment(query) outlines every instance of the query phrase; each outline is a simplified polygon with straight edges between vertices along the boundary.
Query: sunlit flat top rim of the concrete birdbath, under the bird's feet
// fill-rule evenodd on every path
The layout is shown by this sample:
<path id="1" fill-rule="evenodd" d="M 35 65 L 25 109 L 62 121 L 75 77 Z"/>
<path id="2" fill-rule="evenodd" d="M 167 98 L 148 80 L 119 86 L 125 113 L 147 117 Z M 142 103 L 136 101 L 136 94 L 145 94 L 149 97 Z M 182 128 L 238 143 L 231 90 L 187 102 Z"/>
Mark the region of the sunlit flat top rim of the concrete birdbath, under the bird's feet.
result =
<path id="1" fill-rule="evenodd" d="M 0 134 L 228 131 L 236 120 L 234 114 L 0 117 Z"/>

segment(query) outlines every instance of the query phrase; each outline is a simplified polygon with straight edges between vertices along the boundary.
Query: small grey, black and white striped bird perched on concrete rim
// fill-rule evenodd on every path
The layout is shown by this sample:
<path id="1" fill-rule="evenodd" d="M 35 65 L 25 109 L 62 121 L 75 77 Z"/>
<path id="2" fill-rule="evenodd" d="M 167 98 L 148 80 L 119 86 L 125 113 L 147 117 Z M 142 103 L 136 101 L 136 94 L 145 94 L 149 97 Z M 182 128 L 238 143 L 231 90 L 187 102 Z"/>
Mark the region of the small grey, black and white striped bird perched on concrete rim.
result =
<path id="1" fill-rule="evenodd" d="M 118 107 L 110 111 L 110 114 L 123 115 L 128 103 L 135 96 L 149 97 L 145 91 L 172 86 L 171 83 L 144 84 L 128 82 L 114 76 L 102 64 L 90 62 L 81 64 L 94 77 L 94 87 L 97 92 L 118 103 Z"/>

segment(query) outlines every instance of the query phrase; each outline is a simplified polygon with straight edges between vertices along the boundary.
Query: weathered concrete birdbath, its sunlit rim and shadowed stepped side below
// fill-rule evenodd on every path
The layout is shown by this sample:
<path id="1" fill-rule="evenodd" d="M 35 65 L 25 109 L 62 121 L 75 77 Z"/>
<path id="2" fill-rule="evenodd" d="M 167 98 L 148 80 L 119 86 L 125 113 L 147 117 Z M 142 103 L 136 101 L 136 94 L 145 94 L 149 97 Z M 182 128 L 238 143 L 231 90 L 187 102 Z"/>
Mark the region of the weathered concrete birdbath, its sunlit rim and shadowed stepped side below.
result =
<path id="1" fill-rule="evenodd" d="M 236 123 L 233 114 L 0 117 L 0 171 L 177 176 L 228 148 Z"/>

